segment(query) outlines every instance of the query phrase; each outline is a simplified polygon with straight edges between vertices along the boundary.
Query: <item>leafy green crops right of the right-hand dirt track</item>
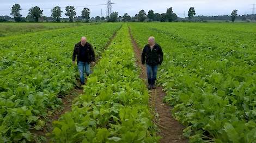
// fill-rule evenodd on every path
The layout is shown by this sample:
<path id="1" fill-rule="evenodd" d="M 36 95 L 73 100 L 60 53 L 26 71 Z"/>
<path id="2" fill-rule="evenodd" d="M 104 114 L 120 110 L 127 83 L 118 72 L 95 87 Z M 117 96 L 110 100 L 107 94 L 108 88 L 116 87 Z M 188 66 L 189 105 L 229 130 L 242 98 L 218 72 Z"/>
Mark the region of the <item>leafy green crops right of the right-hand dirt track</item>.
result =
<path id="1" fill-rule="evenodd" d="M 175 119 L 187 126 L 190 142 L 255 142 L 255 25 L 130 25 L 140 47 L 148 36 L 161 45 L 157 82 Z"/>

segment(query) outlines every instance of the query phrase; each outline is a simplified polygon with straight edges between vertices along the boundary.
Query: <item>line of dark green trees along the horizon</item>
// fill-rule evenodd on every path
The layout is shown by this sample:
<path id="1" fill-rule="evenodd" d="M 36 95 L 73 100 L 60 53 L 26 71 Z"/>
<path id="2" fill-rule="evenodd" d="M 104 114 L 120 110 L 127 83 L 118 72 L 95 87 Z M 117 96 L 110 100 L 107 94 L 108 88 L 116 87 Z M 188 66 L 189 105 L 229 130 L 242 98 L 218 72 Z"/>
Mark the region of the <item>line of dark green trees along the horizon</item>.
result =
<path id="1" fill-rule="evenodd" d="M 48 17 L 42 16 L 43 10 L 41 10 L 39 8 L 39 6 L 34 6 L 31 9 L 29 9 L 28 15 L 26 18 L 22 17 L 22 15 L 20 14 L 20 10 L 22 10 L 20 4 L 14 4 L 11 7 L 10 15 L 14 17 L 14 21 L 16 21 L 16 22 L 25 22 L 25 21 L 38 22 L 39 18 L 43 18 L 43 19 L 48 18 Z M 53 9 L 51 9 L 52 21 L 60 22 L 62 13 L 63 13 L 63 11 L 59 6 L 55 6 Z M 64 14 L 65 14 L 65 16 L 69 17 L 69 22 L 73 22 L 74 18 L 77 18 L 74 6 L 66 6 Z M 187 12 L 188 21 L 191 21 L 192 19 L 197 19 L 197 20 L 199 19 L 199 20 L 203 21 L 203 20 L 209 20 L 209 19 L 216 18 L 216 17 L 205 17 L 205 16 L 194 17 L 195 15 L 196 15 L 196 11 L 193 7 L 188 9 L 188 12 Z M 231 21 L 234 22 L 235 19 L 240 16 L 237 16 L 237 10 L 234 10 L 231 13 L 231 15 L 228 17 L 229 18 L 231 17 Z M 0 16 L 0 22 L 1 22 L 1 19 L 4 19 L 6 21 L 7 18 L 9 19 L 8 16 Z M 225 18 L 227 20 L 227 16 Z M 81 16 L 78 16 L 78 19 L 83 19 L 83 20 L 85 20 L 85 22 L 89 22 L 90 9 L 83 8 L 83 10 L 81 11 Z M 148 13 L 146 14 L 146 12 L 144 10 L 140 10 L 138 12 L 138 14 L 136 14 L 135 16 L 132 16 L 132 17 L 130 15 L 128 15 L 127 13 L 124 14 L 123 16 L 118 16 L 118 12 L 113 12 L 109 17 L 108 16 L 106 16 L 106 17 L 96 16 L 96 17 L 92 17 L 91 19 L 94 19 L 95 21 L 107 20 L 108 22 L 144 22 L 144 21 L 147 21 L 147 22 L 152 22 L 152 21 L 174 22 L 174 21 L 178 21 L 178 16 L 173 12 L 173 8 L 170 7 L 163 14 L 154 13 L 153 10 L 149 10 Z"/>

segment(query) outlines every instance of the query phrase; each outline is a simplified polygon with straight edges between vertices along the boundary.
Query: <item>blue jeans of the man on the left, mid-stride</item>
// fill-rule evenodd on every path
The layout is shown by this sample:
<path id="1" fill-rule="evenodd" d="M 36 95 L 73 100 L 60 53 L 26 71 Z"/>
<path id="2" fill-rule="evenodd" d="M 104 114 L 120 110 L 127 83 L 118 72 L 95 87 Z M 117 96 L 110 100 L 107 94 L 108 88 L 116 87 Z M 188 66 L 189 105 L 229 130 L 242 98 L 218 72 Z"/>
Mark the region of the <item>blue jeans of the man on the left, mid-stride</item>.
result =
<path id="1" fill-rule="evenodd" d="M 80 82 L 82 85 L 84 85 L 84 68 L 86 69 L 86 75 L 89 76 L 91 74 L 90 72 L 90 63 L 89 62 L 81 62 L 78 61 L 78 71 L 80 74 Z"/>

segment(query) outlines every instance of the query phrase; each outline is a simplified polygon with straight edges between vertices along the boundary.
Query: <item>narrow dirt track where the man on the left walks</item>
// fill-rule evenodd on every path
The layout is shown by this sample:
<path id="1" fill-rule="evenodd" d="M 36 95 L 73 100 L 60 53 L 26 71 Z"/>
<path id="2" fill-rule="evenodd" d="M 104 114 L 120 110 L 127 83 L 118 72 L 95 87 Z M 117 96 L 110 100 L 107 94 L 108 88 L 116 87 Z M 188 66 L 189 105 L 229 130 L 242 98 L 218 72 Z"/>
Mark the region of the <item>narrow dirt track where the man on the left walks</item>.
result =
<path id="1" fill-rule="evenodd" d="M 121 29 L 121 27 L 119 28 Z M 119 30 L 118 29 L 118 30 Z M 117 30 L 117 31 L 118 31 Z M 110 40 L 107 42 L 105 49 L 109 47 L 111 42 L 113 41 L 114 37 L 117 35 L 117 31 L 114 32 Z M 96 57 L 96 64 L 99 62 L 99 58 Z M 91 66 L 91 70 L 93 71 L 95 65 Z M 49 141 L 50 137 L 48 137 L 46 134 L 51 133 L 53 130 L 52 122 L 55 120 L 58 120 L 61 115 L 65 114 L 65 112 L 69 112 L 72 109 L 72 101 L 80 94 L 83 94 L 83 89 L 81 87 L 80 81 L 77 81 L 77 87 L 75 87 L 73 90 L 71 90 L 70 94 L 65 96 L 59 96 L 59 98 L 62 99 L 63 107 L 61 109 L 58 109 L 57 111 L 49 114 L 46 118 L 46 124 L 41 130 L 31 129 L 30 132 L 38 137 L 45 137 L 47 139 L 47 142 Z M 86 80 L 87 82 L 87 80 Z M 44 119 L 43 119 L 44 120 Z"/>

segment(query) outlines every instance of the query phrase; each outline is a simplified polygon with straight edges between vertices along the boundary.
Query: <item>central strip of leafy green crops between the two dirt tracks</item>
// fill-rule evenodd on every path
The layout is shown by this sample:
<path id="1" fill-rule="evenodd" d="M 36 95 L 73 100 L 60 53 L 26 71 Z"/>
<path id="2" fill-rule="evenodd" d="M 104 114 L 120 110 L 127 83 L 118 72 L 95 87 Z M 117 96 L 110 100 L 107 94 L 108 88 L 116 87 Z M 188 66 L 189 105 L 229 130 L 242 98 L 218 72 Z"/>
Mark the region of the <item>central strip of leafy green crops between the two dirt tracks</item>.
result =
<path id="1" fill-rule="evenodd" d="M 157 142 L 148 90 L 139 78 L 124 24 L 67 112 L 54 122 L 52 142 Z"/>

